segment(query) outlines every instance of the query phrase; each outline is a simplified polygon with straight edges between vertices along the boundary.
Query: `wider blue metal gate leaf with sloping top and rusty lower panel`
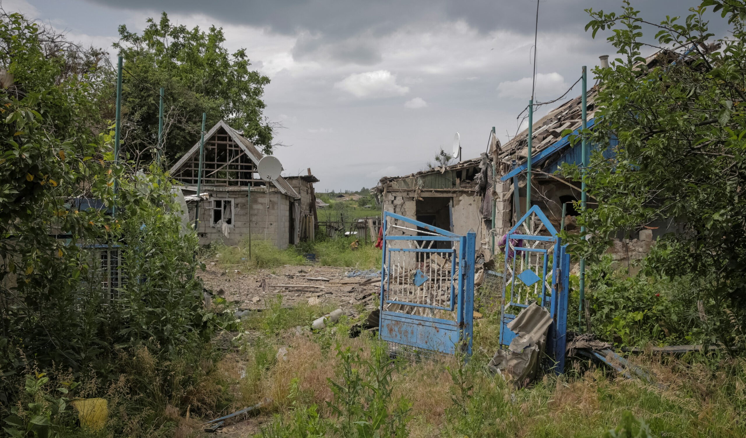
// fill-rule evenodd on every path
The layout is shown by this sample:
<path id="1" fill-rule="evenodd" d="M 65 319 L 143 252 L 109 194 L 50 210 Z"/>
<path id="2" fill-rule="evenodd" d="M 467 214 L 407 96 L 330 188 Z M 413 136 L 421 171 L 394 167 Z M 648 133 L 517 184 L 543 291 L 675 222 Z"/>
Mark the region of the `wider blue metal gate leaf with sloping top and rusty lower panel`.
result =
<path id="1" fill-rule="evenodd" d="M 392 349 L 471 354 L 475 241 L 384 212 L 379 336 Z"/>

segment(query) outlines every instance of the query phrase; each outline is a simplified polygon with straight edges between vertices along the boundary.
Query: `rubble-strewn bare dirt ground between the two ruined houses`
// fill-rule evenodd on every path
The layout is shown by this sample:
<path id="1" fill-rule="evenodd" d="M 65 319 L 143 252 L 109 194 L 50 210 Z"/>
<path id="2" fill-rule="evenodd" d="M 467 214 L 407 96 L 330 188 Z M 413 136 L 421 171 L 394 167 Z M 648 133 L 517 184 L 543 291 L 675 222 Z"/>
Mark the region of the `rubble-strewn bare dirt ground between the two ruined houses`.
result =
<path id="1" fill-rule="evenodd" d="M 241 310 L 265 308 L 266 301 L 278 294 L 283 307 L 300 303 L 333 304 L 345 313 L 356 313 L 354 305 L 374 308 L 373 300 L 380 290 L 379 279 L 366 285 L 363 276 L 348 278 L 351 268 L 327 266 L 292 266 L 243 273 L 237 267 L 225 269 L 215 261 L 206 263 L 207 270 L 198 273 L 204 287 L 234 302 Z"/>

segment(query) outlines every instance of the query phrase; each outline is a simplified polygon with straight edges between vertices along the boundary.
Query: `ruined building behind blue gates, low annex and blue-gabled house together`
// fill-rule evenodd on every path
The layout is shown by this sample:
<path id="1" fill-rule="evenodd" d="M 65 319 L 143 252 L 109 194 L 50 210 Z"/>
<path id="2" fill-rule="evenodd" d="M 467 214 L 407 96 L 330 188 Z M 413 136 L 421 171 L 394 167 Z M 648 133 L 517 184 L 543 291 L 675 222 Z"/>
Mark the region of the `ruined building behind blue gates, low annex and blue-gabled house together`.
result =
<path id="1" fill-rule="evenodd" d="M 715 47 L 717 48 L 717 47 Z M 659 52 L 645 60 L 648 67 L 680 60 L 674 51 Z M 587 127 L 594 129 L 595 98 L 599 86 L 586 94 Z M 582 99 L 565 101 L 533 124 L 531 206 L 539 206 L 556 229 L 579 232 L 575 223 L 580 200 L 580 183 L 555 174 L 562 163 L 582 162 L 580 142 L 571 144 L 565 130 L 580 131 Z M 527 136 L 524 130 L 501 145 L 492 132 L 487 153 L 454 165 L 441 166 L 405 177 L 384 177 L 372 192 L 383 209 L 421 222 L 466 235 L 477 233 L 477 257 L 485 260 L 500 253 L 499 239 L 527 211 Z M 615 156 L 617 142 L 589 145 L 589 151 L 601 150 L 607 158 Z M 593 208 L 595 200 L 588 198 Z M 564 212 L 564 215 L 563 215 Z M 612 257 L 630 267 L 630 261 L 644 258 L 655 238 L 672 231 L 670 223 L 651 223 L 644 229 L 625 230 L 613 239 Z"/>

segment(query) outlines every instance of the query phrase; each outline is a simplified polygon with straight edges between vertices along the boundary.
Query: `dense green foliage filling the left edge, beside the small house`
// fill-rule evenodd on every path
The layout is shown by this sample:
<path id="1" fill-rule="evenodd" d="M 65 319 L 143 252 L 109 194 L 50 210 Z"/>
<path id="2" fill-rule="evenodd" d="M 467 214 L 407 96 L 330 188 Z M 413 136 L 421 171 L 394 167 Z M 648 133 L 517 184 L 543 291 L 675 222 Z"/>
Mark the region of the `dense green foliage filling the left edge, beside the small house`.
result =
<path id="1" fill-rule="evenodd" d="M 155 166 L 115 162 L 113 132 L 95 129 L 111 78 L 95 52 L 19 14 L 0 16 L 0 48 L 15 80 L 0 89 L 3 410 L 27 367 L 105 376 L 115 349 L 184 351 L 219 318 L 204 310 L 198 241 L 171 183 Z M 101 288 L 103 250 L 122 257 L 113 293 Z"/>

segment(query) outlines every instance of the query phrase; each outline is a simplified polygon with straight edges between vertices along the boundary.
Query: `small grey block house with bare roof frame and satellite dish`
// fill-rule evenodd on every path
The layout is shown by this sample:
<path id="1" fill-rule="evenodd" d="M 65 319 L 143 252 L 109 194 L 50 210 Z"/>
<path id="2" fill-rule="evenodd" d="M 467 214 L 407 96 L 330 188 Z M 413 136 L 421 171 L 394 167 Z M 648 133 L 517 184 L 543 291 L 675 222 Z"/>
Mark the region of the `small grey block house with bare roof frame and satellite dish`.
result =
<path id="1" fill-rule="evenodd" d="M 200 244 L 222 241 L 236 245 L 249 233 L 271 241 L 280 249 L 313 239 L 316 197 L 309 174 L 261 180 L 257 163 L 262 153 L 225 121 L 219 121 L 204 135 L 201 187 L 197 193 L 200 161 L 197 142 L 170 169 L 183 184 L 189 220 L 198 215 Z"/>

